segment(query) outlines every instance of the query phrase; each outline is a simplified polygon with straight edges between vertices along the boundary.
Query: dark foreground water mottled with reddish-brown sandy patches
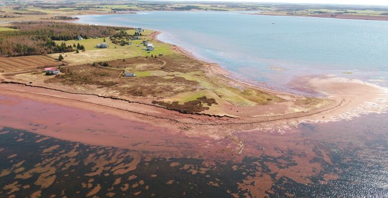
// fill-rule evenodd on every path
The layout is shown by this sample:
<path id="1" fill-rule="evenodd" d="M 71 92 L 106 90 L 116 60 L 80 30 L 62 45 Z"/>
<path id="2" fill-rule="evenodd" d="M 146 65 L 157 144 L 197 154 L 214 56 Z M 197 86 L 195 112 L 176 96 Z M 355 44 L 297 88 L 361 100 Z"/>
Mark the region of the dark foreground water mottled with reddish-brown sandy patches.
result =
<path id="1" fill-rule="evenodd" d="M 88 112 L 73 113 L 73 124 L 88 120 L 77 116 L 99 120 Z M 28 131 L 3 126 L 0 196 L 384 197 L 386 119 L 386 114 L 373 113 L 341 122 L 301 123 L 283 133 L 236 132 L 244 145 L 241 154 L 230 149 L 231 137 L 180 139 L 164 133 L 155 141 L 158 131 L 141 139 L 144 130 L 136 127 L 140 132 L 128 132 L 125 138 L 137 142 L 119 148 L 79 143 L 98 138 L 95 123 L 88 121 L 76 129 L 83 131 L 75 131 L 85 134 L 78 142 L 39 134 L 44 128 L 71 134 L 68 121 L 20 125 Z M 102 133 L 115 135 L 119 128 L 110 125 Z"/>

